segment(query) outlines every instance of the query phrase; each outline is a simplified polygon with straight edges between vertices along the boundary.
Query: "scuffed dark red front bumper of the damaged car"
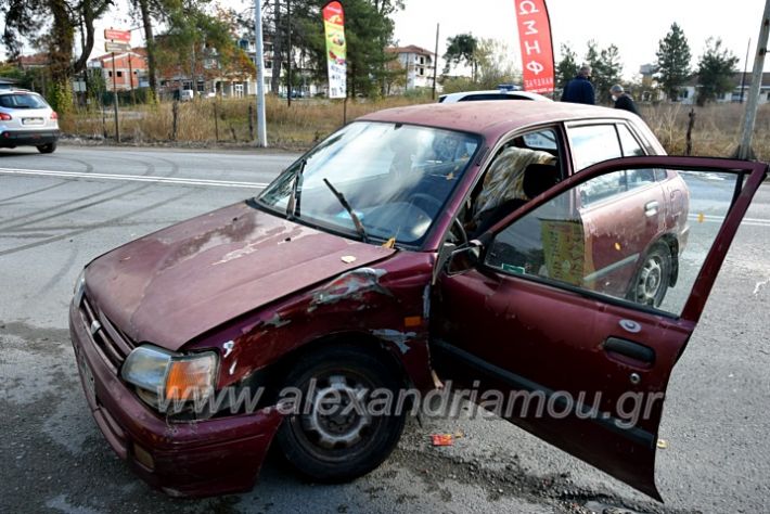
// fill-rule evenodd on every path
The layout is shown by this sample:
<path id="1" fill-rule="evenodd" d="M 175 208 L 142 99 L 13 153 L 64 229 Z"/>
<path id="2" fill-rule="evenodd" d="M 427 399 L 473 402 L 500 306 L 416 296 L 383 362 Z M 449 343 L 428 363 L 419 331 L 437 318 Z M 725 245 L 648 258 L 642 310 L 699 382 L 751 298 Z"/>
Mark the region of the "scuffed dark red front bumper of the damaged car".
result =
<path id="1" fill-rule="evenodd" d="M 221 494 L 254 486 L 281 424 L 278 410 L 167 422 L 117 376 L 74 304 L 69 333 L 91 413 L 113 450 L 141 478 L 170 496 Z"/>

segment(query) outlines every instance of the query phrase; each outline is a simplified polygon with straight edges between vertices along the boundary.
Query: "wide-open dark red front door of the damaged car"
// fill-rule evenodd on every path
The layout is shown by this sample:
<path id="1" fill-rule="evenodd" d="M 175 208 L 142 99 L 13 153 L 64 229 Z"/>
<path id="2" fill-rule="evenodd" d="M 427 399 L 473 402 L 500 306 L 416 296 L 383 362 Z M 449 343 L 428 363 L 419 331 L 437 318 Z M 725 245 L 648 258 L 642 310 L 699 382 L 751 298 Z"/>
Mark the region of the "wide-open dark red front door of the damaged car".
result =
<path id="1" fill-rule="evenodd" d="M 534 198 L 438 273 L 431 351 L 439 376 L 660 500 L 666 386 L 767 171 L 630 157 Z"/>

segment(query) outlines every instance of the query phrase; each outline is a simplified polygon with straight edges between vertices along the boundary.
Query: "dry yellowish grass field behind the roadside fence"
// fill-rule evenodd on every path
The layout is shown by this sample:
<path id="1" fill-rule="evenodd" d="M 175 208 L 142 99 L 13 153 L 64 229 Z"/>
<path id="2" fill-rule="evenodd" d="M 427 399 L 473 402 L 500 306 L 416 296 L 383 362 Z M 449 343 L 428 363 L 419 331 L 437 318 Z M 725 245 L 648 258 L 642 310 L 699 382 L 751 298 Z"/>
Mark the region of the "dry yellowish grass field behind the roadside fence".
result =
<path id="1" fill-rule="evenodd" d="M 347 119 L 387 107 L 429 102 L 428 99 L 388 98 L 376 102 L 348 101 Z M 249 106 L 253 99 L 198 100 L 179 104 L 176 140 L 172 137 L 172 105 L 121 108 L 120 133 L 133 143 L 241 143 L 253 140 L 249 132 Z M 285 100 L 268 98 L 268 138 L 272 146 L 306 149 L 343 125 L 342 101 L 299 100 L 292 106 Z M 737 147 L 743 106 L 737 104 L 691 107 L 680 104 L 641 106 L 642 115 L 669 154 L 683 155 L 688 114 L 695 111 L 692 133 L 693 155 L 731 156 Z M 256 110 L 254 110 L 256 111 Z M 216 119 L 215 123 L 215 112 Z M 252 113 L 253 115 L 253 113 Z M 106 131 L 114 136 L 112 110 L 105 121 L 99 111 L 79 112 L 61 120 L 65 133 L 100 139 Z M 256 130 L 256 127 L 254 128 Z M 753 146 L 757 157 L 770 160 L 770 104 L 757 116 Z"/>

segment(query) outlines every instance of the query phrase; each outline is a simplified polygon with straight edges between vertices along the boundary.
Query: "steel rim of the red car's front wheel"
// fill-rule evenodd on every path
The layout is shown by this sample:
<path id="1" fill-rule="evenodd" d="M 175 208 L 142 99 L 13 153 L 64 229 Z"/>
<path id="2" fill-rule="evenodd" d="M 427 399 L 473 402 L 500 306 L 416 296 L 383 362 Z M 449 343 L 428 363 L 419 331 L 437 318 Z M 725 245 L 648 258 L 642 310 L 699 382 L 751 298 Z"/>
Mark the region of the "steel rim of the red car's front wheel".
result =
<path id="1" fill-rule="evenodd" d="M 367 389 L 343 375 L 332 375 L 315 391 L 312 411 L 301 417 L 303 429 L 312 433 L 323 448 L 349 448 L 360 441 L 371 424 L 364 399 Z"/>

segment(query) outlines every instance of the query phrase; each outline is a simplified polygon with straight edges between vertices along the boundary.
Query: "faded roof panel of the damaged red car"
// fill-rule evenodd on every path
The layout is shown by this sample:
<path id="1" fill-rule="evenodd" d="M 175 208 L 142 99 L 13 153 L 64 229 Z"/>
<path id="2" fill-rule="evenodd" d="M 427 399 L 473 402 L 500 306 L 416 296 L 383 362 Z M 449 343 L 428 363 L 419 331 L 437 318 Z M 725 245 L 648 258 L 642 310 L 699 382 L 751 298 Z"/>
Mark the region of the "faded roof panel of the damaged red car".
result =
<path id="1" fill-rule="evenodd" d="M 496 140 L 518 128 L 557 121 L 626 119 L 637 125 L 640 123 L 637 116 L 619 108 L 567 102 L 504 102 L 501 105 L 498 100 L 395 107 L 358 119 L 474 132 L 488 140 Z"/>

